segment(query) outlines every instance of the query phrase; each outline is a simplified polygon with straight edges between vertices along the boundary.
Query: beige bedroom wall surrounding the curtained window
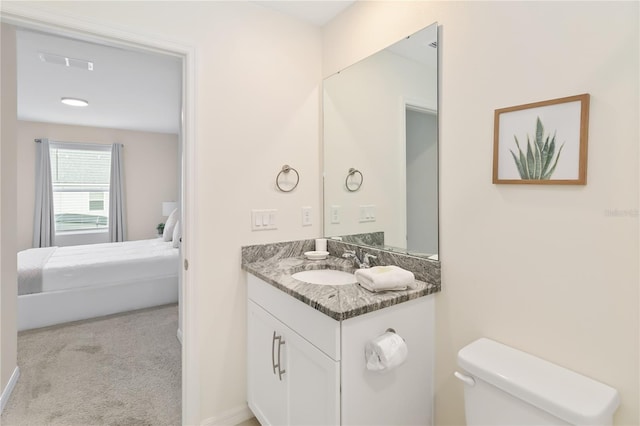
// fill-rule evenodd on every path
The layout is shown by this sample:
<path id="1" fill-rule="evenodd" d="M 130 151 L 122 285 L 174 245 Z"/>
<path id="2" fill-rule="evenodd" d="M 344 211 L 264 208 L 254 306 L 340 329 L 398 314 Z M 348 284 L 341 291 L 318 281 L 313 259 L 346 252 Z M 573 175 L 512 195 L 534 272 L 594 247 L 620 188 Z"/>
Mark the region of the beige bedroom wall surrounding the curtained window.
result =
<path id="1" fill-rule="evenodd" d="M 33 140 L 45 137 L 60 142 L 124 144 L 127 237 L 141 240 L 156 236 L 156 226 L 167 219 L 162 216 L 162 202 L 178 201 L 177 135 L 20 120 L 17 134 L 18 211 L 21 212 L 18 250 L 32 246 L 36 155 Z M 64 245 L 63 238 L 56 239 L 56 244 Z"/>

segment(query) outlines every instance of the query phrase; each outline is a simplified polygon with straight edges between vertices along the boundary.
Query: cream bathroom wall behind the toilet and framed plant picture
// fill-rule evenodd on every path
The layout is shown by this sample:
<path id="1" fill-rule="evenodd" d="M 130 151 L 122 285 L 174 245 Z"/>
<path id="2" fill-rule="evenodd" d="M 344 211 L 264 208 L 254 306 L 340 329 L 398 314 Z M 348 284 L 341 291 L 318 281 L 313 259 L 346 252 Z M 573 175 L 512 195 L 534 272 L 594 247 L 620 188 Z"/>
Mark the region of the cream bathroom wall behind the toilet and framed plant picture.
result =
<path id="1" fill-rule="evenodd" d="M 464 422 L 452 374 L 480 336 L 614 386 L 615 424 L 640 424 L 638 6 L 358 2 L 324 29 L 328 76 L 442 26 L 437 425 Z M 585 92 L 586 186 L 491 183 L 495 109 Z"/>

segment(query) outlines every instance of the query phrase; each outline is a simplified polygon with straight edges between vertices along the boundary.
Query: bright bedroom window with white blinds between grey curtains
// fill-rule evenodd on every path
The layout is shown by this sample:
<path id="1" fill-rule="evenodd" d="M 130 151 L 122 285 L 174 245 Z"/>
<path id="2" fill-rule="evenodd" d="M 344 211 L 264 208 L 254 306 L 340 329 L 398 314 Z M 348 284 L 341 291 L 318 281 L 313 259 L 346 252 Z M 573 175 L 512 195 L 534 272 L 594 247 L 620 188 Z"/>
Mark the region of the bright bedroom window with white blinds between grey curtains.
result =
<path id="1" fill-rule="evenodd" d="M 109 145 L 52 143 L 51 179 L 56 233 L 109 226 Z"/>

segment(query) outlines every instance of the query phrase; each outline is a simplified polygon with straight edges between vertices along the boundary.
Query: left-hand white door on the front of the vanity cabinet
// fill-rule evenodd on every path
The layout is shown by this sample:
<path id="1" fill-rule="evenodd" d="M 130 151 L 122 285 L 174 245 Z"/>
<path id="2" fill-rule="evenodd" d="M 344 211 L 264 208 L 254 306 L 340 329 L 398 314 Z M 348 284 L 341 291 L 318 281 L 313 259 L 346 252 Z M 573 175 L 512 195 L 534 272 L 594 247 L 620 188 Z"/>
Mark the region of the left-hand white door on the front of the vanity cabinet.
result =
<path id="1" fill-rule="evenodd" d="M 277 365 L 280 351 L 279 368 L 288 372 L 282 363 L 284 345 L 280 345 L 283 325 L 249 301 L 247 327 L 249 407 L 262 425 L 287 425 L 287 383 L 285 376 L 280 378 Z"/>

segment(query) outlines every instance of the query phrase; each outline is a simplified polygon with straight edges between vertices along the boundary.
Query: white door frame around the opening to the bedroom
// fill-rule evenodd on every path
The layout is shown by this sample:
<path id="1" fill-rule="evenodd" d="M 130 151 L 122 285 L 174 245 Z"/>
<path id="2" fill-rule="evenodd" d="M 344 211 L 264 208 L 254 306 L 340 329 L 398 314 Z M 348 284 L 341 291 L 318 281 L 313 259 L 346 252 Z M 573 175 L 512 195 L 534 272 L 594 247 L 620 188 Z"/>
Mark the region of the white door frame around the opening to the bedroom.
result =
<path id="1" fill-rule="evenodd" d="M 195 139 L 195 47 L 158 40 L 152 35 L 131 33 L 103 23 L 37 10 L 20 2 L 4 3 L 0 21 L 18 28 L 44 31 L 99 44 L 162 53 L 182 59 L 182 244 L 181 266 L 195 253 L 196 139 Z M 197 352 L 197 287 L 194 268 L 182 268 L 182 424 L 200 423 L 199 354 Z"/>

